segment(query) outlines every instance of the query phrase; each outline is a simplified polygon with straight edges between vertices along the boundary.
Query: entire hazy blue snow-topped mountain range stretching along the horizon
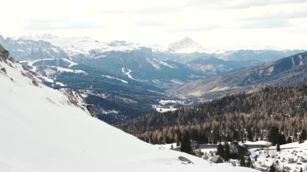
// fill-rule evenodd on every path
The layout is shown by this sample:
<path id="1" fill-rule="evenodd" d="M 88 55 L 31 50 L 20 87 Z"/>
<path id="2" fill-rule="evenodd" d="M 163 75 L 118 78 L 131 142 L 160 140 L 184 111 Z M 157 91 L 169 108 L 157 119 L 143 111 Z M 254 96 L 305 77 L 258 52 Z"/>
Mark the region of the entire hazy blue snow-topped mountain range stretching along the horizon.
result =
<path id="1" fill-rule="evenodd" d="M 61 38 L 50 34 L 6 39 L 0 36 L 0 43 L 19 61 L 64 58 L 163 89 L 299 51 L 239 50 L 212 53 L 188 37 L 168 47 L 126 41 L 99 42 L 89 37 Z"/>

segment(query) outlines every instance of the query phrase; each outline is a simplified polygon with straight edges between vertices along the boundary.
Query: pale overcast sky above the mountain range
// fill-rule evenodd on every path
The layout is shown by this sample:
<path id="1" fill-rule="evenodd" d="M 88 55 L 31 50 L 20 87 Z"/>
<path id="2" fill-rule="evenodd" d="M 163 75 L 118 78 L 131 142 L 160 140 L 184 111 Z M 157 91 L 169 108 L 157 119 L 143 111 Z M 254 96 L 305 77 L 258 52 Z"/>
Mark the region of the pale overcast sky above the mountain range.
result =
<path id="1" fill-rule="evenodd" d="M 209 49 L 307 49 L 305 0 L 10 0 L 0 35 L 50 33 Z"/>

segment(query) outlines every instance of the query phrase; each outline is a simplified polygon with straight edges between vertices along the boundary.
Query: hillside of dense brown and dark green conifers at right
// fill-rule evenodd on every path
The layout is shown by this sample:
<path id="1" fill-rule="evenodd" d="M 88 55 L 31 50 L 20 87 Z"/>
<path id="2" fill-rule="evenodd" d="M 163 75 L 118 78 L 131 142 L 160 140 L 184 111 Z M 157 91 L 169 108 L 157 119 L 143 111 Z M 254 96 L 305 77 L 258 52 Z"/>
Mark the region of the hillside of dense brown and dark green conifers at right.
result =
<path id="1" fill-rule="evenodd" d="M 179 143 L 181 133 L 185 131 L 199 144 L 266 140 L 272 133 L 268 140 L 279 143 L 286 139 L 290 142 L 297 141 L 307 127 L 306 102 L 307 85 L 266 87 L 253 93 L 225 96 L 193 108 L 147 114 L 116 126 L 152 144 Z"/>

